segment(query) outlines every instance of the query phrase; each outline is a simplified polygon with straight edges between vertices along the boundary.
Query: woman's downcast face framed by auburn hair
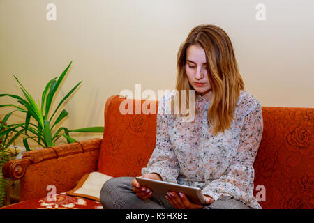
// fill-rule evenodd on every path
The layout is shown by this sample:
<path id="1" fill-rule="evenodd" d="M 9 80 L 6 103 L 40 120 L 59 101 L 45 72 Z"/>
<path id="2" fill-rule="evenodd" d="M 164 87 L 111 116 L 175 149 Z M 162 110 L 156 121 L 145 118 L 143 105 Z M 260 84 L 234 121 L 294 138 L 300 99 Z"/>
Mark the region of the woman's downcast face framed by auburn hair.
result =
<path id="1" fill-rule="evenodd" d="M 186 49 L 186 75 L 193 89 L 206 95 L 211 91 L 207 74 L 207 62 L 204 49 L 199 45 L 190 45 Z"/>

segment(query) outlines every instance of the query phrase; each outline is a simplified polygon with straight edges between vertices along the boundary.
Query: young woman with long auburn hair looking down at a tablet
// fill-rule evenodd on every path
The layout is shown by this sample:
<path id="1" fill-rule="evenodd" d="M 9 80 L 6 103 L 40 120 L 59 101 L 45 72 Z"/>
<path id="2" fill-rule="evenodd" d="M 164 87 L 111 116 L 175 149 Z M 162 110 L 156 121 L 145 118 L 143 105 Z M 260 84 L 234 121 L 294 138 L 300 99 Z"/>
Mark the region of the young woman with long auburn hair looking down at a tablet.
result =
<path id="1" fill-rule="evenodd" d="M 244 91 L 227 33 L 214 25 L 195 27 L 179 48 L 177 68 L 177 91 L 158 103 L 156 148 L 142 177 L 200 187 L 206 205 L 175 192 L 157 199 L 130 177 L 108 180 L 101 203 L 104 208 L 261 208 L 253 197 L 253 162 L 262 138 L 262 109 Z M 175 100 L 193 106 L 189 97 L 181 101 L 181 90 L 187 95 L 195 90 L 193 121 L 184 121 L 190 114 L 173 112 Z"/>

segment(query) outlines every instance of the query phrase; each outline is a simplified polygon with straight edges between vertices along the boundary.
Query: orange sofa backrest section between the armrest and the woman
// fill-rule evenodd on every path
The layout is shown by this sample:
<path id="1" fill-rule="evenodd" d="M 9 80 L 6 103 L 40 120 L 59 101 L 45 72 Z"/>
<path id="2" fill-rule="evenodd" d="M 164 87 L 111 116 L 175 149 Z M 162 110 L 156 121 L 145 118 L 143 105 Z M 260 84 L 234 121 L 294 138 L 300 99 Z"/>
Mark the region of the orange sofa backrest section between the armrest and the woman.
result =
<path id="1" fill-rule="evenodd" d="M 121 114 L 121 102 L 133 105 L 133 114 Z M 144 100 L 136 100 L 140 106 Z M 105 105 L 105 130 L 98 159 L 98 171 L 110 176 L 140 176 L 156 145 L 156 118 L 154 114 L 135 114 L 135 100 L 113 95 Z M 139 104 L 137 104 L 138 107 Z M 144 105 L 145 107 L 145 105 Z M 154 108 L 153 108 L 154 109 Z"/>

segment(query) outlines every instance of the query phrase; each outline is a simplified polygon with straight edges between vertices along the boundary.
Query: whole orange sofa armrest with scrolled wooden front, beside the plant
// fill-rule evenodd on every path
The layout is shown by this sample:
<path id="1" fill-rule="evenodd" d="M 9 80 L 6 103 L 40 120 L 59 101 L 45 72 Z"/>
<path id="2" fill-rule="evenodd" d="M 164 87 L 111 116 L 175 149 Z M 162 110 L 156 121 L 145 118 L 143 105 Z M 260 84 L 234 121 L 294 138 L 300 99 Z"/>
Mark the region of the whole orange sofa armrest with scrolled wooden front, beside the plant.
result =
<path id="1" fill-rule="evenodd" d="M 3 176 L 21 180 L 20 201 L 44 197 L 50 192 L 47 185 L 66 192 L 84 174 L 97 170 L 101 142 L 96 138 L 26 152 L 22 159 L 3 165 Z"/>

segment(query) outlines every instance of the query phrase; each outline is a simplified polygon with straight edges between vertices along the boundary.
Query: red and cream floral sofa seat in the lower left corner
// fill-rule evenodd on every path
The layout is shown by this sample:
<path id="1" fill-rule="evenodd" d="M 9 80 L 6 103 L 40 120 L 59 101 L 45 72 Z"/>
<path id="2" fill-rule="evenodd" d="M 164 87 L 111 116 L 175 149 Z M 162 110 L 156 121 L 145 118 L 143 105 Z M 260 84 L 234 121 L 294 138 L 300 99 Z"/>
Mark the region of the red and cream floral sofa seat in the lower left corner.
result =
<path id="1" fill-rule="evenodd" d="M 98 201 L 61 193 L 56 194 L 56 201 L 42 197 L 4 206 L 3 209 L 103 209 L 103 206 Z"/>

